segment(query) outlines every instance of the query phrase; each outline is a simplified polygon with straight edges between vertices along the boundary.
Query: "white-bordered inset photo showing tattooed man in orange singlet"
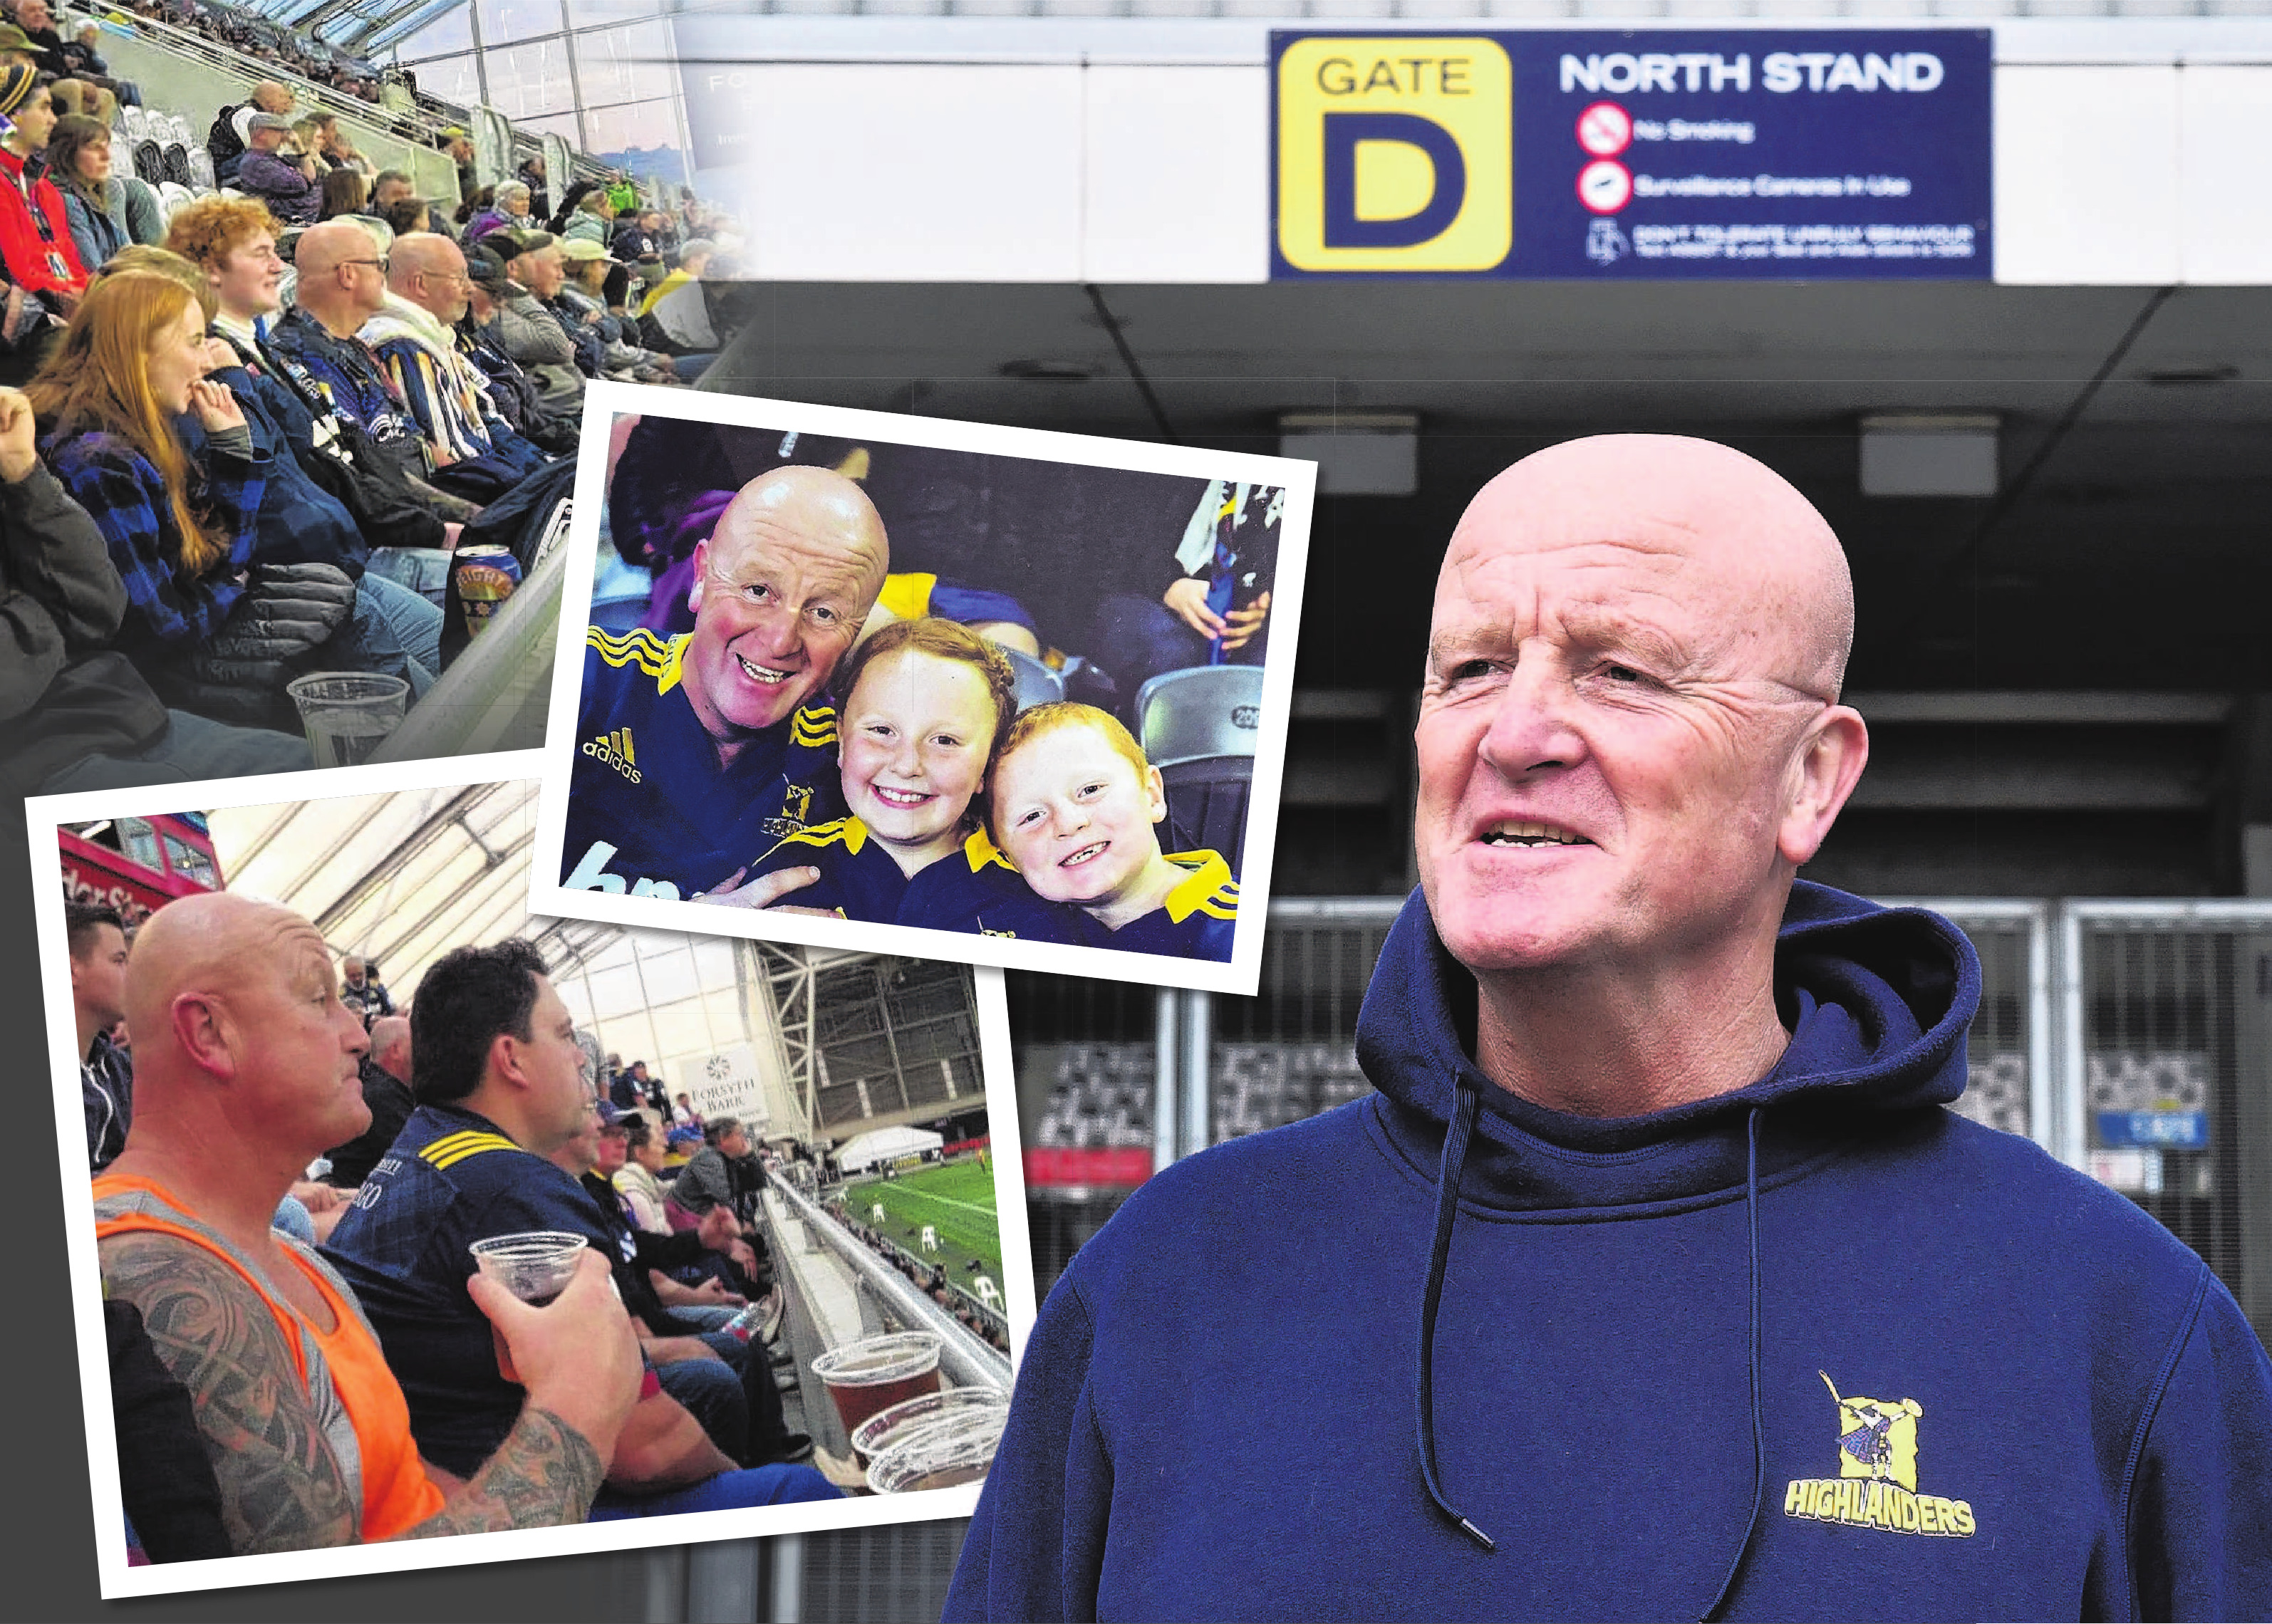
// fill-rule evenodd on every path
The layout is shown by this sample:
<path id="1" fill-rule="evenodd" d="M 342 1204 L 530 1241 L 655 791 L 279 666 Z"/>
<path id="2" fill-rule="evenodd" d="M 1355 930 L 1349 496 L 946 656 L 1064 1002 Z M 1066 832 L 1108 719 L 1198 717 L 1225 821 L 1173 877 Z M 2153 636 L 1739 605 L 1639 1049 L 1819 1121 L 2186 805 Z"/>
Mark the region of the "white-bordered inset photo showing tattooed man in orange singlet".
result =
<path id="1" fill-rule="evenodd" d="M 538 761 L 27 802 L 105 1597 L 975 1508 L 1000 972 L 532 915 Z"/>

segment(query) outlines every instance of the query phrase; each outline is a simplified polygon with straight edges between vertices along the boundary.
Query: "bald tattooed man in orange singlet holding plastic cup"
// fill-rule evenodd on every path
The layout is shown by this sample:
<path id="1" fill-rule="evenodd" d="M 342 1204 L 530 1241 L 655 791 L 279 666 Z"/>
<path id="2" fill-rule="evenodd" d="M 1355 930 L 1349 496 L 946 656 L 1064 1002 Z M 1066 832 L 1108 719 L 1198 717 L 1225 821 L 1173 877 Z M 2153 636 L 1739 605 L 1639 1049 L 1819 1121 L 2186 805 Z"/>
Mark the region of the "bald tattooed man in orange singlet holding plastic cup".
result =
<path id="1" fill-rule="evenodd" d="M 102 1286 L 191 1395 L 229 1549 L 579 1522 L 641 1390 L 604 1258 L 582 1258 L 550 1308 L 466 1281 L 523 1386 L 495 1447 L 452 1474 L 420 1458 L 352 1290 L 268 1227 L 298 1172 L 370 1120 L 368 1038 L 323 936 L 264 902 L 184 897 L 141 929 L 125 1004 L 136 1111 L 95 1179 Z"/>

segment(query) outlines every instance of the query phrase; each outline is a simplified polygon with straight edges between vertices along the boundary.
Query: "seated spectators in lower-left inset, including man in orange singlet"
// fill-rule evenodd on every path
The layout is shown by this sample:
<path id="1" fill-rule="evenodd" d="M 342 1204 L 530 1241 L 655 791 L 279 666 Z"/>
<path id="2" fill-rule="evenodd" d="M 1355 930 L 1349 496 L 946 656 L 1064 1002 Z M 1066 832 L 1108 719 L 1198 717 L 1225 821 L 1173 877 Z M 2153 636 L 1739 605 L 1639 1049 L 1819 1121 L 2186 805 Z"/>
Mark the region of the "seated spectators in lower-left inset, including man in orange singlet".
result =
<path id="1" fill-rule="evenodd" d="M 307 920 L 227 893 L 159 909 L 132 945 L 75 902 L 66 943 L 141 1558 L 857 1481 L 784 1422 L 795 1361 L 745 1133 L 713 1122 L 716 1165 L 673 1170 L 534 947 L 450 952 L 395 1011 L 375 965 L 334 979 Z M 616 1295 L 493 1290 L 468 1245 L 525 1231 L 582 1236 Z"/>

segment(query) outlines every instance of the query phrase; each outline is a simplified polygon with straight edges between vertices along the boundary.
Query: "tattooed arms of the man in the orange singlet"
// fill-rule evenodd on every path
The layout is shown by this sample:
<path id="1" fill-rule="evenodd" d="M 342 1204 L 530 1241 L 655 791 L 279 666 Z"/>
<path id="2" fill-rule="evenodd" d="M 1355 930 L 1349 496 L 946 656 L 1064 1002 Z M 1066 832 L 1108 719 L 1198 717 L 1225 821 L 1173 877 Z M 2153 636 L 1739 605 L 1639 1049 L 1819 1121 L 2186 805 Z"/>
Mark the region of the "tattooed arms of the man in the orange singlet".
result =
<path id="1" fill-rule="evenodd" d="M 229 1549 L 304 1551 L 354 1545 L 361 1506 L 323 1435 L 284 1333 L 268 1304 L 227 1263 L 204 1247 L 159 1233 L 111 1236 L 100 1247 L 109 1295 L 134 1301 L 159 1358 L 189 1388 L 198 1431 L 220 1481 L 223 1524 Z M 559 1306 L 577 1295 L 577 1311 L 591 1297 L 620 1320 L 623 1308 L 604 1292 L 607 1265 L 598 1263 L 598 1286 L 579 1281 Z M 582 1288 L 582 1290 L 579 1290 Z M 602 1447 L 613 1449 L 616 1429 L 636 1401 L 638 1351 L 629 1329 L 629 1392 L 623 1388 L 625 1356 L 613 1338 L 588 1336 L 588 1320 L 573 1311 L 554 1322 L 552 1311 L 511 1301 L 484 1301 L 504 1324 L 516 1358 L 532 1388 L 527 1408 L 498 1451 L 473 1481 L 452 1492 L 434 1517 L 400 1538 L 484 1533 L 491 1529 L 550 1529 L 582 1522 L 607 1472 Z M 561 1381 L 548 1345 L 588 1349 L 586 1374 L 598 1381 Z M 538 1374 L 543 1372 L 543 1374 Z"/>

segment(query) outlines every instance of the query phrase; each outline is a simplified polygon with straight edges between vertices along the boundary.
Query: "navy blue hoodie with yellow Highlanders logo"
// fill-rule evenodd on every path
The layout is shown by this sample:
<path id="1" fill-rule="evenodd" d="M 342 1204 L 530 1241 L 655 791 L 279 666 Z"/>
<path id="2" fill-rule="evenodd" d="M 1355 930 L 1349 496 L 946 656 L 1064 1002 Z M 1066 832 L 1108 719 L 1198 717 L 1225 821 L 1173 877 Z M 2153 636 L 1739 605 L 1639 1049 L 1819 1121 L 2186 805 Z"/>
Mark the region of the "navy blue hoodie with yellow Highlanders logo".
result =
<path id="1" fill-rule="evenodd" d="M 947 1617 L 2272 1615 L 2272 1365 L 1945 1111 L 1965 938 L 1799 884 L 1777 1002 L 1740 1093 L 1543 1111 L 1415 895 L 1379 1093 L 1161 1172 L 1050 1292 Z"/>

